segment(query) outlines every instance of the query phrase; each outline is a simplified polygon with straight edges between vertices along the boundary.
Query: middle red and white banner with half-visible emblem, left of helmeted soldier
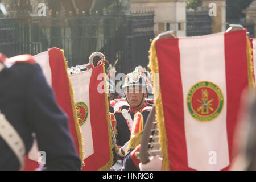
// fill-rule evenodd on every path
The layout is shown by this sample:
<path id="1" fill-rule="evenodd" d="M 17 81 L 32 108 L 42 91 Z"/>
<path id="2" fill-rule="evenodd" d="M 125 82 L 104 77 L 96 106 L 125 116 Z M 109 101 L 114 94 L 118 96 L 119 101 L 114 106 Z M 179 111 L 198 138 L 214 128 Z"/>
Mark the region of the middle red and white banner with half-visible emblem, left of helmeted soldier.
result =
<path id="1" fill-rule="evenodd" d="M 71 74 L 77 116 L 84 138 L 84 171 L 109 170 L 113 164 L 105 63 Z M 105 82 L 105 84 L 104 84 Z"/>

